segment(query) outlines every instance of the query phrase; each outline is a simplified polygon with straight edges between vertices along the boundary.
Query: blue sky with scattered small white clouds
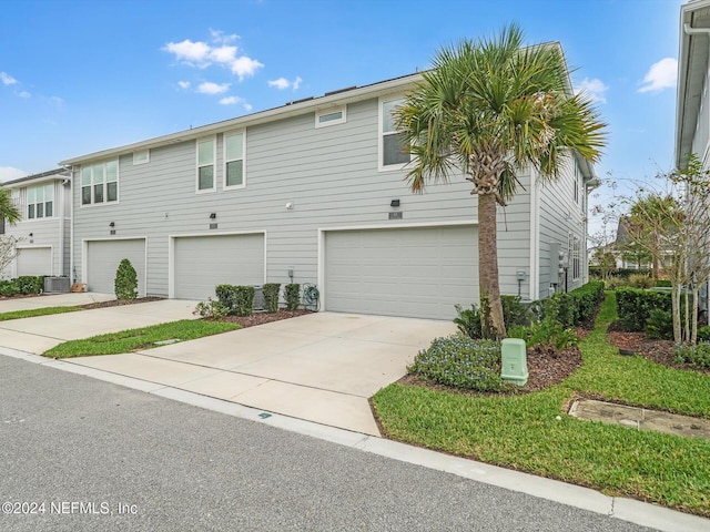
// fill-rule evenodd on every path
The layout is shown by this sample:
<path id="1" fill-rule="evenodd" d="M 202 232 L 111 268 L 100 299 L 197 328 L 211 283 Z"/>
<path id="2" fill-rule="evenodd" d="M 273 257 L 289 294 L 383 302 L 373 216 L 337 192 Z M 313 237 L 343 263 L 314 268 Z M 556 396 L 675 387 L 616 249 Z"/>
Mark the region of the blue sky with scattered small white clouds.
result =
<path id="1" fill-rule="evenodd" d="M 681 0 L 23 0 L 0 16 L 0 181 L 423 70 L 517 22 L 560 41 L 621 186 L 672 166 Z M 626 185 L 623 185 L 626 183 Z M 599 201 L 599 200 L 597 200 Z"/>

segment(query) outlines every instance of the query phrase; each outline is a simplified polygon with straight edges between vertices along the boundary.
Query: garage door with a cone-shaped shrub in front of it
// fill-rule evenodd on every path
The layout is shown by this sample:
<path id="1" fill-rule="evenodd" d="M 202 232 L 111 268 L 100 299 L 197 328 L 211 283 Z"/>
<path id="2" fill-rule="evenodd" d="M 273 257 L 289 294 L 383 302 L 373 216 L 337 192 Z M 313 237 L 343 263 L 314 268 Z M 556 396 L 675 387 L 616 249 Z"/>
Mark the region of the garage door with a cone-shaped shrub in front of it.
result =
<path id="1" fill-rule="evenodd" d="M 145 295 L 145 239 L 93 241 L 87 243 L 87 288 L 115 293 L 115 270 L 128 258 L 138 274 L 138 294 Z"/>

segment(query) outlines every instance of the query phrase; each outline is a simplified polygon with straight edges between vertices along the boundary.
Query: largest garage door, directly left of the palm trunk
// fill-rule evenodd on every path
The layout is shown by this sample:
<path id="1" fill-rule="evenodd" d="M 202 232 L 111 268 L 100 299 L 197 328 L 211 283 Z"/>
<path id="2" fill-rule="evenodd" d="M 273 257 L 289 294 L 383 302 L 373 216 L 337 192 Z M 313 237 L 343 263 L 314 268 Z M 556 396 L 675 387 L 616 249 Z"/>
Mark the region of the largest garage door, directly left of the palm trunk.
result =
<path id="1" fill-rule="evenodd" d="M 450 319 L 478 300 L 473 226 L 325 234 L 325 309 Z"/>

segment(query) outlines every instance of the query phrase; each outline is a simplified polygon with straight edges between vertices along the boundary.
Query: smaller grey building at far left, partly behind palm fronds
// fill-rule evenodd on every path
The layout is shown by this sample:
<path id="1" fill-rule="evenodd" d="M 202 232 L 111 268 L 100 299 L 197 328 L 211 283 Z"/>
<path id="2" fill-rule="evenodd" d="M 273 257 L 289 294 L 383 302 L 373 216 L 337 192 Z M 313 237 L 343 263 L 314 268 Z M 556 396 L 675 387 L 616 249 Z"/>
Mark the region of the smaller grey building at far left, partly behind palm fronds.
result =
<path id="1" fill-rule="evenodd" d="M 70 268 L 71 180 L 51 170 L 2 184 L 21 213 L 4 234 L 18 242 L 18 256 L 2 277 L 21 275 L 68 276 Z"/>

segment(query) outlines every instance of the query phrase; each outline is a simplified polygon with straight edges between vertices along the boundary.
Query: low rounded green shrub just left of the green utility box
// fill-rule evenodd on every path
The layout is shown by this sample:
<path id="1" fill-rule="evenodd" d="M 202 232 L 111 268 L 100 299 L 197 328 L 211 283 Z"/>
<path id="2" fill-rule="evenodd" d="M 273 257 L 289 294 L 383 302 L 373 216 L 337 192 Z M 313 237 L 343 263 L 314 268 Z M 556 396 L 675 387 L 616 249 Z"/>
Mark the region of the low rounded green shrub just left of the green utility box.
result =
<path id="1" fill-rule="evenodd" d="M 463 335 L 436 338 L 407 369 L 440 385 L 467 390 L 498 391 L 504 387 L 500 342 L 494 340 L 474 340 Z"/>

